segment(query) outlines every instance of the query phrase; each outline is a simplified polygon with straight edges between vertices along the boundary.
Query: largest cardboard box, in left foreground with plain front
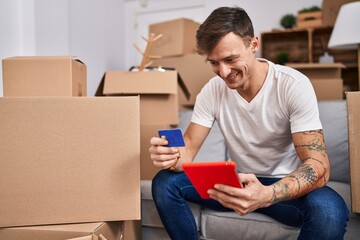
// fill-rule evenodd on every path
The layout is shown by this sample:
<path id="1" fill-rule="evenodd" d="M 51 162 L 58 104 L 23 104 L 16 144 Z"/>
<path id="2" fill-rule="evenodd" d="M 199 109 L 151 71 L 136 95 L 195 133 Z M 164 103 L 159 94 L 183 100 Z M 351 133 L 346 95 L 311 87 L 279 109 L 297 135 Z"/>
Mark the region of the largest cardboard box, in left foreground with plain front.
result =
<path id="1" fill-rule="evenodd" d="M 0 98 L 0 227 L 140 219 L 138 97 Z"/>

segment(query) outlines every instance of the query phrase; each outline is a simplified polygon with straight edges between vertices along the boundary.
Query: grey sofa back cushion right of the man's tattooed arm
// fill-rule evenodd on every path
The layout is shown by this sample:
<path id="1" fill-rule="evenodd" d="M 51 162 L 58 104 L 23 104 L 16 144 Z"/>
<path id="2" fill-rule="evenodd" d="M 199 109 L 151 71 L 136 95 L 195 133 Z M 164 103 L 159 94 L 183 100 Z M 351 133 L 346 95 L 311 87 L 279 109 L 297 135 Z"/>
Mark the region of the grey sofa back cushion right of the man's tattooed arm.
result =
<path id="1" fill-rule="evenodd" d="M 320 101 L 319 113 L 330 160 L 330 180 L 349 183 L 346 100 Z"/>

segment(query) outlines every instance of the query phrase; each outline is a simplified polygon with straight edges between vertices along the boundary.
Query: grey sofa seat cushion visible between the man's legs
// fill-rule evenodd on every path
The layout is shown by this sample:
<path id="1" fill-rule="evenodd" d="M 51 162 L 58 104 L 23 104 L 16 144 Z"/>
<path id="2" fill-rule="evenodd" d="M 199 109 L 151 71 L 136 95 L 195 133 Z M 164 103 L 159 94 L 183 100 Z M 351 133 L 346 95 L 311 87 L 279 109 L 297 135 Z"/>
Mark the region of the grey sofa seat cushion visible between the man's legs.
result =
<path id="1" fill-rule="evenodd" d="M 201 233 L 202 239 L 296 239 L 299 228 L 286 226 L 260 213 L 240 216 L 235 212 L 203 209 Z"/>

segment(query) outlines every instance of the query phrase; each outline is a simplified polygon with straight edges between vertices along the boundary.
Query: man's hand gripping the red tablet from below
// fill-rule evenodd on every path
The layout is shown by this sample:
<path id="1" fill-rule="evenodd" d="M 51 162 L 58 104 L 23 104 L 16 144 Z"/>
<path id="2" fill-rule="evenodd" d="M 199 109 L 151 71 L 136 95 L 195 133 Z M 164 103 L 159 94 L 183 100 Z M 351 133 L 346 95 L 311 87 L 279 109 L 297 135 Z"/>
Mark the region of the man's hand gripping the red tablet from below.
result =
<path id="1" fill-rule="evenodd" d="M 258 208 L 271 205 L 273 191 L 271 187 L 262 185 L 254 174 L 239 173 L 244 188 L 236 188 L 222 184 L 216 184 L 208 194 L 224 207 L 233 209 L 243 216 Z"/>

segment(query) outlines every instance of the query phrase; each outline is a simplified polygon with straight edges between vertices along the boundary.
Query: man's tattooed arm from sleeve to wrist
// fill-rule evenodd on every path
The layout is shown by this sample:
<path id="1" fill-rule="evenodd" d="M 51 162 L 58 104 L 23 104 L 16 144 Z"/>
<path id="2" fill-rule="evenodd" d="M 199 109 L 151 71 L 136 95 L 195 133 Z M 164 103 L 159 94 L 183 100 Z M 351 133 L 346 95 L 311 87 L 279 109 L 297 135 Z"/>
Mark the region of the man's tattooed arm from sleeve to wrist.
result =
<path id="1" fill-rule="evenodd" d="M 297 198 L 325 186 L 330 177 L 330 164 L 322 130 L 292 134 L 301 166 L 272 185 L 271 204 Z"/>

